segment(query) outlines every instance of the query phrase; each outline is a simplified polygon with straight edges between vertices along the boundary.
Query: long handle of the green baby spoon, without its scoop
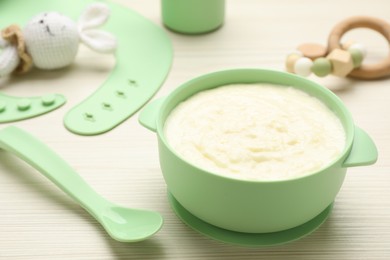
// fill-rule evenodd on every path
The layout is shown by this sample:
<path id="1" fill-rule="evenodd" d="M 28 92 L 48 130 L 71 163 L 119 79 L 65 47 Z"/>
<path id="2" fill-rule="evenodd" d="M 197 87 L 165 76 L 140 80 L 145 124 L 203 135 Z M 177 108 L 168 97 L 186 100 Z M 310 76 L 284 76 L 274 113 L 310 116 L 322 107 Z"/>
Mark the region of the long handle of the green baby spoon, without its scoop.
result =
<path id="1" fill-rule="evenodd" d="M 20 128 L 8 126 L 0 130 L 0 148 L 33 166 L 90 213 L 108 204 L 61 157 Z"/>

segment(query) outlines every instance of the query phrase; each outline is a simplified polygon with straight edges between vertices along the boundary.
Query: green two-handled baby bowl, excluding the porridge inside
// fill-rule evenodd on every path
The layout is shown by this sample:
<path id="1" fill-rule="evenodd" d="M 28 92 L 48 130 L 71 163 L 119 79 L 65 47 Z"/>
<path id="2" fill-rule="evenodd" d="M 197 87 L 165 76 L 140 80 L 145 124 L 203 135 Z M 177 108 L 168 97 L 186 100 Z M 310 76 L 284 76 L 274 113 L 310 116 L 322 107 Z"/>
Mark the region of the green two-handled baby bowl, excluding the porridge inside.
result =
<path id="1" fill-rule="evenodd" d="M 233 179 L 182 159 L 164 136 L 164 122 L 170 112 L 195 93 L 235 83 L 292 86 L 317 97 L 340 118 L 347 137 L 344 151 L 320 171 L 281 181 Z M 195 78 L 149 104 L 139 120 L 157 132 L 161 170 L 176 200 L 201 220 L 238 232 L 277 232 L 308 222 L 335 200 L 348 167 L 373 164 L 378 155 L 372 139 L 354 125 L 335 94 L 315 82 L 278 71 L 236 69 Z"/>

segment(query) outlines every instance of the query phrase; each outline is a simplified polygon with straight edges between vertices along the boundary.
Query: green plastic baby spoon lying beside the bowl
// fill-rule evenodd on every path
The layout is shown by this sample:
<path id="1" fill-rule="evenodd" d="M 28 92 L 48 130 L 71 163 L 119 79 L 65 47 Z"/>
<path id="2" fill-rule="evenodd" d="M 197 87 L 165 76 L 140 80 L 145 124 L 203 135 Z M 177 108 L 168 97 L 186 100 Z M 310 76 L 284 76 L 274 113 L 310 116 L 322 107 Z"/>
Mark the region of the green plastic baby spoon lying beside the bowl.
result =
<path id="1" fill-rule="evenodd" d="M 24 160 L 89 212 L 115 240 L 137 242 L 158 232 L 158 212 L 124 208 L 96 193 L 62 158 L 27 132 L 8 126 L 0 130 L 0 148 Z"/>

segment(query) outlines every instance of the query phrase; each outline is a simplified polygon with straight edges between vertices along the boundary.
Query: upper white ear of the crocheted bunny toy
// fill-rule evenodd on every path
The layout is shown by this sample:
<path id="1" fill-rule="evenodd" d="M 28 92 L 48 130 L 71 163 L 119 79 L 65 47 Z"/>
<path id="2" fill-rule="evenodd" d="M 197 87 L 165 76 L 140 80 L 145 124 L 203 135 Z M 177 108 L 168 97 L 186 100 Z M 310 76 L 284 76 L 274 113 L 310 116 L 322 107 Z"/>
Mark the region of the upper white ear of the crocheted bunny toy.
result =
<path id="1" fill-rule="evenodd" d="M 104 24 L 110 16 L 110 9 L 102 3 L 91 4 L 79 19 L 79 31 L 96 28 Z"/>

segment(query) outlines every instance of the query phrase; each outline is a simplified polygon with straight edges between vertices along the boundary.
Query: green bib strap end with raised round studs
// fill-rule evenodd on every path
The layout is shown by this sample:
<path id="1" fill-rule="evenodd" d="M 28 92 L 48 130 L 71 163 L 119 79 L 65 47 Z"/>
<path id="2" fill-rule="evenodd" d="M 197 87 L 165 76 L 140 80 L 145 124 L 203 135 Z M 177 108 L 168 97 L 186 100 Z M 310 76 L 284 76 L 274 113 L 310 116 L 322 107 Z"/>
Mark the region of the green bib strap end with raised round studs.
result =
<path id="1" fill-rule="evenodd" d="M 64 96 L 58 94 L 15 97 L 0 92 L 0 123 L 37 117 L 61 107 L 65 102 Z"/>

